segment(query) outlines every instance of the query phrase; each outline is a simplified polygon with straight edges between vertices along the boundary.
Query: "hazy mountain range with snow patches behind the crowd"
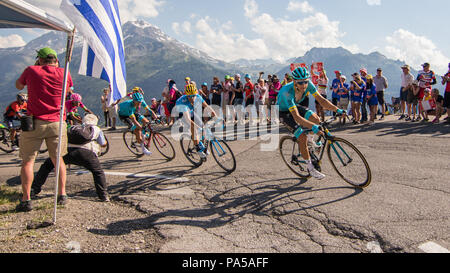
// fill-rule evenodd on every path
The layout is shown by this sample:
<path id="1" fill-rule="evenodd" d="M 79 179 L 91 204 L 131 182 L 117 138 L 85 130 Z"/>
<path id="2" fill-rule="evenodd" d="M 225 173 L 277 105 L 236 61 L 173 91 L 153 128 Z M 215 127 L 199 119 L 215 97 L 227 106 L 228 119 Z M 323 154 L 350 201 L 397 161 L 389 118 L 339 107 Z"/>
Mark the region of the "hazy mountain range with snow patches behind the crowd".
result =
<path id="1" fill-rule="evenodd" d="M 323 62 L 328 77 L 334 78 L 334 70 L 341 70 L 349 77 L 352 73 L 366 67 L 370 74 L 375 74 L 378 67 L 383 68 L 390 86 L 387 97 L 398 96 L 400 89 L 400 67 L 404 64 L 386 58 L 378 52 L 368 55 L 352 54 L 343 48 L 313 48 L 304 56 L 283 62 L 272 59 L 245 60 L 225 62 L 212 58 L 208 54 L 179 42 L 161 29 L 144 21 L 127 22 L 122 26 L 125 44 L 127 88 L 140 86 L 145 91 L 145 98 L 161 97 L 167 79 L 174 79 L 178 87 L 184 86 L 184 78 L 189 76 L 200 85 L 203 82 L 211 84 L 212 78 L 218 76 L 223 79 L 225 75 L 235 73 L 251 74 L 254 79 L 259 71 L 267 74 L 277 74 L 280 79 L 290 72 L 290 63 Z M 36 50 L 42 47 L 52 47 L 64 60 L 66 35 L 60 32 L 48 32 L 18 48 L 0 49 L 0 58 L 5 64 L 0 67 L 0 107 L 5 107 L 13 100 L 18 91 L 15 81 L 28 65 L 35 62 Z M 73 77 L 75 92 L 83 96 L 83 102 L 88 108 L 101 116 L 100 96 L 101 90 L 108 85 L 99 79 L 78 75 L 81 60 L 82 38 L 76 37 L 70 72 Z M 413 75 L 417 72 L 412 70 Z"/>

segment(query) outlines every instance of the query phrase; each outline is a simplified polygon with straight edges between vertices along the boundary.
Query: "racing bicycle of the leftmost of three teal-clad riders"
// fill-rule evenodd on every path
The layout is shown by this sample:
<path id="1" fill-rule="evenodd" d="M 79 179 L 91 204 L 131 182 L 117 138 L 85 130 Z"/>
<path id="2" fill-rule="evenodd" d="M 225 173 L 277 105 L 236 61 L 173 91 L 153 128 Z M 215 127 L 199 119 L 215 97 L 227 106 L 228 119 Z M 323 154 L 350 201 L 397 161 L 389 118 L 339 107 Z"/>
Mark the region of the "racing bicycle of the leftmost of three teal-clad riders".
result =
<path id="1" fill-rule="evenodd" d="M 156 150 L 164 156 L 168 161 L 175 158 L 175 149 L 170 142 L 170 140 L 160 132 L 152 129 L 150 123 L 147 123 L 142 128 L 142 136 L 144 141 L 144 146 L 150 150 L 153 143 Z M 143 156 L 141 145 L 137 142 L 136 135 L 131 130 L 126 130 L 123 133 L 123 141 L 127 146 L 128 150 L 137 156 Z"/>

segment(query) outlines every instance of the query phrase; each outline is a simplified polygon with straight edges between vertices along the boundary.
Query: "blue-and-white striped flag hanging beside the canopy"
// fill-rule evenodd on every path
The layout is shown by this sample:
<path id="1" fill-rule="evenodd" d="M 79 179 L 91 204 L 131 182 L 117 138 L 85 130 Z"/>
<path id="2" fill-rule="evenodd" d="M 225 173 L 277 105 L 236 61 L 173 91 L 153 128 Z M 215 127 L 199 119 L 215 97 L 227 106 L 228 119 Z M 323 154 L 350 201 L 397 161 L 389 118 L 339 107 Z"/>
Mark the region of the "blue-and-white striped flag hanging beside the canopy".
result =
<path id="1" fill-rule="evenodd" d="M 79 74 L 109 82 L 109 105 L 124 97 L 125 50 L 117 0 L 63 0 L 60 8 L 85 40 Z"/>

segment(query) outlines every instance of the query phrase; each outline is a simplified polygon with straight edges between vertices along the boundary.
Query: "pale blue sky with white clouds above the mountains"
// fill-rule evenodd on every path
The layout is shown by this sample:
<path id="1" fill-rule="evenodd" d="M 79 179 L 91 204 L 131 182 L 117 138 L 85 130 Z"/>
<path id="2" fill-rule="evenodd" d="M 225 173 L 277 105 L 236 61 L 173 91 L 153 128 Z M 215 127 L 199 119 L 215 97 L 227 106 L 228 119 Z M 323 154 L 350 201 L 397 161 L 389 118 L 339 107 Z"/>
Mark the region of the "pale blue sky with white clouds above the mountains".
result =
<path id="1" fill-rule="evenodd" d="M 26 0 L 65 18 L 60 0 Z M 447 71 L 448 0 L 118 0 L 122 21 L 142 19 L 212 57 L 302 56 L 312 47 L 379 51 L 420 68 Z M 447 20 L 446 20 L 447 19 Z M 0 47 L 23 45 L 41 30 L 0 30 Z"/>

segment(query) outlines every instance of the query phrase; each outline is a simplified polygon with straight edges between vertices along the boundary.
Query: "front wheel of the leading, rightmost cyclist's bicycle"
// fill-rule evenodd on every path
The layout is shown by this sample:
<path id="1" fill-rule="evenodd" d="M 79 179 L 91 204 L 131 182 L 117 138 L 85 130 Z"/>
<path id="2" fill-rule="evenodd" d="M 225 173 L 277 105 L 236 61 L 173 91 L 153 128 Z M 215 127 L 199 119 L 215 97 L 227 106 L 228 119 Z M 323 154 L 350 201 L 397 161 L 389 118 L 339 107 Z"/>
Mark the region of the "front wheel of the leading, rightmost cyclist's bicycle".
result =
<path id="1" fill-rule="evenodd" d="M 327 154 L 334 170 L 345 182 L 356 188 L 369 186 L 372 180 L 369 163 L 355 145 L 336 137 L 328 144 Z"/>

